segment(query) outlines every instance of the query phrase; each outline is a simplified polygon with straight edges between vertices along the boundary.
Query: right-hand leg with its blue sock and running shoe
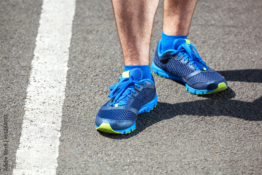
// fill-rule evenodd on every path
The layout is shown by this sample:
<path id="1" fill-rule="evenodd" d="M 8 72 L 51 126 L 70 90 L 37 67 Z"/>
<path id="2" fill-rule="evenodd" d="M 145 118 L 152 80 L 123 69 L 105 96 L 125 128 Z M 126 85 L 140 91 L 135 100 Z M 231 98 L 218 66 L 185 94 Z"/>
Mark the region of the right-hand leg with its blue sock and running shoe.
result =
<path id="1" fill-rule="evenodd" d="M 157 75 L 185 83 L 193 94 L 209 94 L 227 88 L 227 82 L 210 69 L 187 40 L 197 0 L 164 0 L 163 32 L 152 70 Z"/>

